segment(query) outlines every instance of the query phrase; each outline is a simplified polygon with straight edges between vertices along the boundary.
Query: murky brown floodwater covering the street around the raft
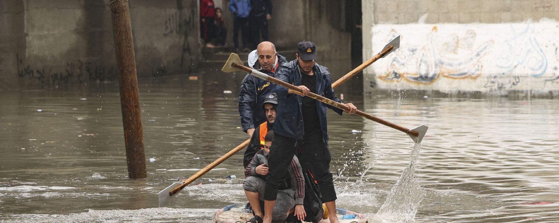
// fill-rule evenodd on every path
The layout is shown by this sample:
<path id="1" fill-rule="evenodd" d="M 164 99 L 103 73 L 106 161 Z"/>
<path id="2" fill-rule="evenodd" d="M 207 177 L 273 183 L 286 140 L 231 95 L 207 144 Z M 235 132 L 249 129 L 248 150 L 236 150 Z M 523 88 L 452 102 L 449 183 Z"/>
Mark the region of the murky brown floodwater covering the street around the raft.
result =
<path id="1" fill-rule="evenodd" d="M 127 178 L 117 83 L 2 92 L 0 221 L 211 222 L 245 203 L 236 154 L 158 207 L 157 192 L 247 139 L 243 74 L 140 80 L 148 179 Z M 224 93 L 231 91 L 233 93 Z M 559 103 L 507 98 L 359 96 L 345 102 L 400 131 L 329 112 L 338 207 L 369 222 L 558 222 Z M 227 180 L 229 175 L 237 178 Z"/>

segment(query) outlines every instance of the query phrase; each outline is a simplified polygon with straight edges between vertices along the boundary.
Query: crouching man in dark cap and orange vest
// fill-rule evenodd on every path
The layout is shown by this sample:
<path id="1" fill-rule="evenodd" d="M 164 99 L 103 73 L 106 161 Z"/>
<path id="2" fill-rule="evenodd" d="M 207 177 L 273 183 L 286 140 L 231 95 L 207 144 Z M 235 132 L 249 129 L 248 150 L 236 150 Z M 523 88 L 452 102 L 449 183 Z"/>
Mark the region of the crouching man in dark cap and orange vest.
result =
<path id="1" fill-rule="evenodd" d="M 254 129 L 254 134 L 250 137 L 250 143 L 245 150 L 243 167 L 247 167 L 254 154 L 262 148 L 264 148 L 264 137 L 268 133 L 268 130 L 272 130 L 274 121 L 276 120 L 276 108 L 278 105 L 278 99 L 276 93 L 271 93 L 266 96 L 264 102 L 262 102 L 262 109 L 266 114 L 266 122 L 262 122 L 256 129 Z"/>

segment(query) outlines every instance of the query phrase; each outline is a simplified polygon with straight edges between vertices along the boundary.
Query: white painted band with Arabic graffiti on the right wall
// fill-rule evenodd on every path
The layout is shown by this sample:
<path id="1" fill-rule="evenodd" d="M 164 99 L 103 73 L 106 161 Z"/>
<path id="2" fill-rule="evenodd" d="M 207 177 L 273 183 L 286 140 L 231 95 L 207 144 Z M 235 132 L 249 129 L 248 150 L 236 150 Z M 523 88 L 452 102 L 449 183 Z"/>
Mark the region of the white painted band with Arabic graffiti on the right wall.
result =
<path id="1" fill-rule="evenodd" d="M 375 24 L 368 36 L 372 49 L 364 51 L 378 53 L 397 35 L 400 50 L 365 71 L 365 86 L 375 82 L 370 85 L 381 89 L 501 95 L 559 91 L 559 22 L 555 20 Z"/>

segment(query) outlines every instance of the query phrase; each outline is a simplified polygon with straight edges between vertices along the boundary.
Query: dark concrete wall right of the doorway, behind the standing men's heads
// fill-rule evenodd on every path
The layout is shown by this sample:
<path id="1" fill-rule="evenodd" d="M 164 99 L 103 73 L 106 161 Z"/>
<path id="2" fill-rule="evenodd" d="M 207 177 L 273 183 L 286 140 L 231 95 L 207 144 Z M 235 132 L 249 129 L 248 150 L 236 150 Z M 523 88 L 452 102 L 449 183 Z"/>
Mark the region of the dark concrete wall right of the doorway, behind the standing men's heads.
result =
<path id="1" fill-rule="evenodd" d="M 328 67 L 337 80 L 352 70 L 351 35 L 340 22 L 345 17 L 343 5 L 340 1 L 274 2 L 270 39 L 278 48 L 288 49 L 297 49 L 300 41 L 314 42 L 317 63 Z"/>

